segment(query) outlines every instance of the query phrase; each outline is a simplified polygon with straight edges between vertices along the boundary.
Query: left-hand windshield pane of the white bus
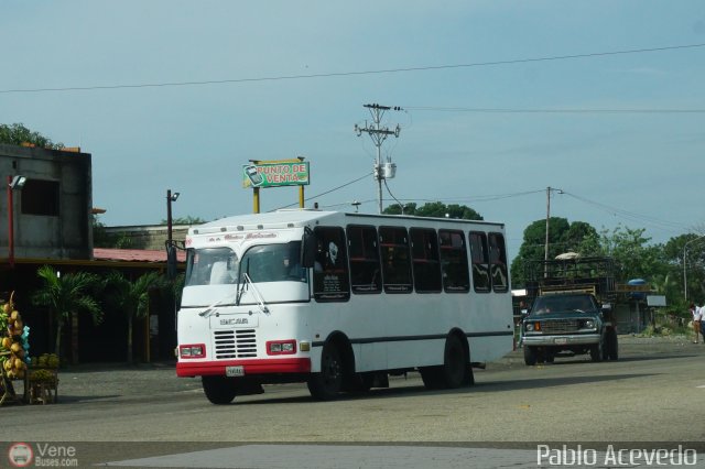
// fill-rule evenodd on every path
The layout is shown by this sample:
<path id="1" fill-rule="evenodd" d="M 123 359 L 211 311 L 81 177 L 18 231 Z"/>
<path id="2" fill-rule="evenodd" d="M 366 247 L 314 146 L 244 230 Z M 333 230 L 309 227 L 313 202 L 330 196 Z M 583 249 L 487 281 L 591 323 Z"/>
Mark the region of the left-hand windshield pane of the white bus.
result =
<path id="1" fill-rule="evenodd" d="M 238 257 L 230 248 L 189 249 L 185 285 L 237 283 Z"/>

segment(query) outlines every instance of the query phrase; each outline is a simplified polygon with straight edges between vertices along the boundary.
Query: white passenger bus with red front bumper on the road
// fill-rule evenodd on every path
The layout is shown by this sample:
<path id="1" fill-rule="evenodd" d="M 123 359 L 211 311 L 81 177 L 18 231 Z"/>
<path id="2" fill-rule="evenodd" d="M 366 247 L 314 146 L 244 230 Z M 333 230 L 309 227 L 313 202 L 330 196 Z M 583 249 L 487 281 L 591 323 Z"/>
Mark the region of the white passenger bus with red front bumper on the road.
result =
<path id="1" fill-rule="evenodd" d="M 501 223 L 279 210 L 192 228 L 186 248 L 176 373 L 214 404 L 283 382 L 330 400 L 411 370 L 458 388 L 512 349 Z"/>

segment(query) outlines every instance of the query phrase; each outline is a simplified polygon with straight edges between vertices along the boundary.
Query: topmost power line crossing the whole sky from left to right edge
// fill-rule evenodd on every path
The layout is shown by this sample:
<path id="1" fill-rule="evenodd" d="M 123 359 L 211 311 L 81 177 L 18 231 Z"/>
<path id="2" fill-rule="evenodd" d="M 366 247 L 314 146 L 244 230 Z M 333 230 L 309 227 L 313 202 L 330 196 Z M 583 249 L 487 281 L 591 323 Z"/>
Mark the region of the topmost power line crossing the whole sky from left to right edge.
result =
<path id="1" fill-rule="evenodd" d="M 419 66 L 419 67 L 387 68 L 387 69 L 378 69 L 378 70 L 358 70 L 358 72 L 352 70 L 352 72 L 307 74 L 307 75 L 281 75 L 281 76 L 271 76 L 271 77 L 232 78 L 232 79 L 219 79 L 219 80 L 164 81 L 164 83 L 151 83 L 151 84 L 145 83 L 145 84 L 132 84 L 132 85 L 68 86 L 68 87 L 56 87 L 56 88 L 17 88 L 17 89 L 1 89 L 0 94 L 95 91 L 95 90 L 107 90 L 107 89 L 164 88 L 164 87 L 176 87 L 176 86 L 205 86 L 205 85 L 242 84 L 242 83 L 257 83 L 257 81 L 282 81 L 282 80 L 308 79 L 308 78 L 334 78 L 334 77 L 348 77 L 348 76 L 360 76 L 360 75 L 382 75 L 382 74 L 397 74 L 397 73 L 406 73 L 406 72 L 430 72 L 430 70 L 443 70 L 443 69 L 454 69 L 454 68 L 516 65 L 516 64 L 550 62 L 550 61 L 567 61 L 567 59 L 576 59 L 576 58 L 605 57 L 605 56 L 611 56 L 611 55 L 643 54 L 643 53 L 650 53 L 650 52 L 687 50 L 687 48 L 696 48 L 696 47 L 704 47 L 704 46 L 705 46 L 705 43 L 698 43 L 698 44 L 671 45 L 671 46 L 664 46 L 664 47 L 593 52 L 593 53 L 586 53 L 586 54 L 516 58 L 516 59 L 508 59 L 508 61 L 475 62 L 469 64 L 452 64 L 452 65 L 435 65 L 435 66 L 427 65 L 427 66 Z"/>

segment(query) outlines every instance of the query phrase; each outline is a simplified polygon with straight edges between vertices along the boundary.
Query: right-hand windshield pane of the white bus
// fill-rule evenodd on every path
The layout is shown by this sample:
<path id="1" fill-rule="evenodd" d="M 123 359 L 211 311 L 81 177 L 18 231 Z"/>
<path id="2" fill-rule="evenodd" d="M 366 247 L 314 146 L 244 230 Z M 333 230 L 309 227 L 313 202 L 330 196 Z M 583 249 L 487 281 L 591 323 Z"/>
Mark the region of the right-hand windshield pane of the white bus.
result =
<path id="1" fill-rule="evenodd" d="M 306 269 L 301 266 L 301 241 L 285 244 L 253 246 L 242 257 L 242 270 L 247 270 L 253 283 L 307 282 Z"/>

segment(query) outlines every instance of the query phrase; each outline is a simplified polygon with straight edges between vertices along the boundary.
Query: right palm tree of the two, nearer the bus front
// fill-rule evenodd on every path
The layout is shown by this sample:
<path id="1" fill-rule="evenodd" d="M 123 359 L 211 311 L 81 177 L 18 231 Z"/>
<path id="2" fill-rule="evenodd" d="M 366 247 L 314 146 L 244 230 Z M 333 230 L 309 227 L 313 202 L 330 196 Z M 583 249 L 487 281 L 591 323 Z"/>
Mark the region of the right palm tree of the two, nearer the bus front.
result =
<path id="1" fill-rule="evenodd" d="M 147 316 L 150 290 L 161 286 L 161 276 L 158 272 L 149 272 L 132 282 L 122 273 L 112 271 L 105 279 L 104 285 L 108 302 L 128 317 L 127 360 L 132 363 L 132 321 Z"/>

